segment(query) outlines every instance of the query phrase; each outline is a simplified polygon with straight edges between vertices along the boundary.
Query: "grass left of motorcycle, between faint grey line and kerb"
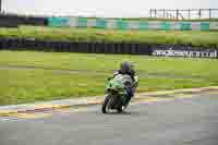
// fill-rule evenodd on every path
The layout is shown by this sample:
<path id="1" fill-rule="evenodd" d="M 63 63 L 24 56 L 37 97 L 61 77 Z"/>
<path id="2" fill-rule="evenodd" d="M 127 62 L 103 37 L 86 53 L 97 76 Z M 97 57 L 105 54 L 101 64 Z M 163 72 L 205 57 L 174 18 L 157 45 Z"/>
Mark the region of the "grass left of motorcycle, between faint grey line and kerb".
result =
<path id="1" fill-rule="evenodd" d="M 104 74 L 65 74 L 45 70 L 0 70 L 0 105 L 102 94 Z M 94 80 L 95 78 L 95 80 Z"/>

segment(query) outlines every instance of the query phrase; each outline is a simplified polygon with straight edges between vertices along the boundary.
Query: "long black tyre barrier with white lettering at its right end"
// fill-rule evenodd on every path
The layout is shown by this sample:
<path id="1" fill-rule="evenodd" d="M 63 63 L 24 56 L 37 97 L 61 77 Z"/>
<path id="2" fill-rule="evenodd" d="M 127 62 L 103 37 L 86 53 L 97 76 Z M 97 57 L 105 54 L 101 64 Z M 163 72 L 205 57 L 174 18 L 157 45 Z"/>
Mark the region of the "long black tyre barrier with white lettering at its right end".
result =
<path id="1" fill-rule="evenodd" d="M 131 43 L 52 41 L 34 38 L 0 38 L 0 50 L 37 50 L 55 52 L 122 53 L 195 58 L 218 58 L 216 47 L 205 49 L 191 45 L 148 45 Z"/>

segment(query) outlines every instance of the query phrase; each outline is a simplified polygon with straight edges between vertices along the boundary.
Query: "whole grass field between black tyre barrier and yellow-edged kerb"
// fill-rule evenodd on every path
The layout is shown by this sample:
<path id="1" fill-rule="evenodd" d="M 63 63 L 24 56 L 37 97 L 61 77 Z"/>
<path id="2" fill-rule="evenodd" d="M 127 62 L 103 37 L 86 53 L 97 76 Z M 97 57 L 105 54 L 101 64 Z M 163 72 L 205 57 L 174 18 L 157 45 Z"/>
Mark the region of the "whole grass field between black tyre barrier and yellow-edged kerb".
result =
<path id="1" fill-rule="evenodd" d="M 211 59 L 0 51 L 0 105 L 104 95 L 122 60 L 135 63 L 138 92 L 218 85 L 218 60 Z M 15 69 L 25 67 L 37 69 Z"/>

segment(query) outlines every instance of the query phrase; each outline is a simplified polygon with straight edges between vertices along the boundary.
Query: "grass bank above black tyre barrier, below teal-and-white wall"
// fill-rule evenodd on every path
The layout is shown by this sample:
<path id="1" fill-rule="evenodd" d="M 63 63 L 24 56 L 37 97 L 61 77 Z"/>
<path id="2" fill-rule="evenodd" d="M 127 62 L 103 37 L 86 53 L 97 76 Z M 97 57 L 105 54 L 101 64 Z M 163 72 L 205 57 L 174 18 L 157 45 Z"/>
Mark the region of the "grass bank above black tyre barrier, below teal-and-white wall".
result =
<path id="1" fill-rule="evenodd" d="M 218 48 L 218 32 L 107 31 L 96 28 L 36 27 L 0 28 L 0 37 L 36 38 L 65 41 L 190 44 Z"/>

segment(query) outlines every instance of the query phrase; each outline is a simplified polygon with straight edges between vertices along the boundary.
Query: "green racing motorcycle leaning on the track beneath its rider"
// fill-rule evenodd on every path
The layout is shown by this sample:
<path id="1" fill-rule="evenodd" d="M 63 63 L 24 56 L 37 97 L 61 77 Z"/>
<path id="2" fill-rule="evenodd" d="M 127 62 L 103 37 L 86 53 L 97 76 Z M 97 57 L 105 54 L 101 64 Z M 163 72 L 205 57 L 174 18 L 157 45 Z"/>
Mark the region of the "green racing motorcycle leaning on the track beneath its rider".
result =
<path id="1" fill-rule="evenodd" d="M 118 74 L 112 78 L 108 78 L 106 82 L 106 98 L 102 105 L 102 113 L 108 113 L 113 110 L 117 112 L 123 112 L 130 104 L 128 98 L 128 88 L 132 87 L 135 92 L 138 85 L 138 76 L 135 76 L 135 82 L 130 75 Z"/>

